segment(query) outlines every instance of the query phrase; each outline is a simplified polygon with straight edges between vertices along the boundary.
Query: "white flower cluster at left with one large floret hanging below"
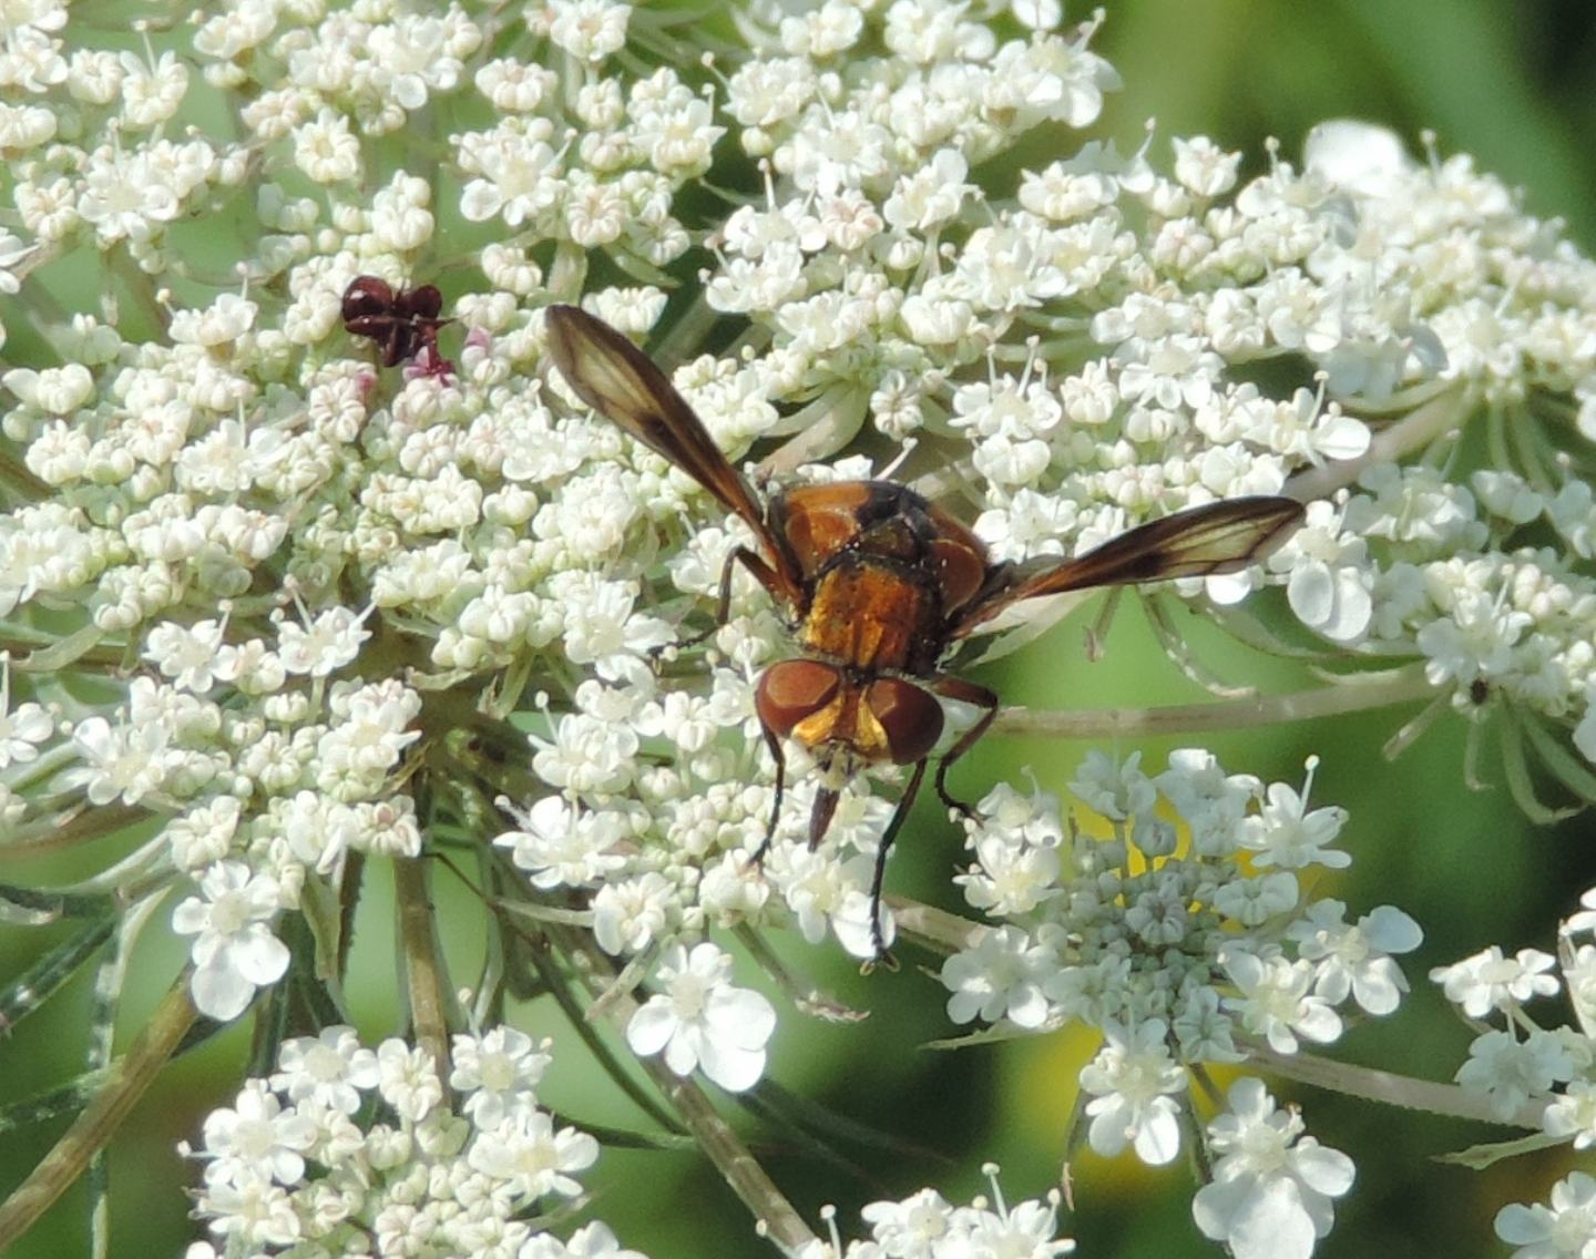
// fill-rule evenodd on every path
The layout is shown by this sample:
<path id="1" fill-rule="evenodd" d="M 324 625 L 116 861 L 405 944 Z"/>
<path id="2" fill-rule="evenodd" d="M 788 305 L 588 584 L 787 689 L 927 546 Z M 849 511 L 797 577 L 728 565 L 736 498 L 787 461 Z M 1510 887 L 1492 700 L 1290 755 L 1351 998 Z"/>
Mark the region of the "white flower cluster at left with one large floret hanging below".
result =
<path id="1" fill-rule="evenodd" d="M 276 649 L 262 638 L 228 646 L 211 638 L 214 654 L 185 654 L 185 643 L 217 632 L 214 622 L 161 622 L 148 654 L 174 680 L 136 678 L 126 705 L 110 718 L 85 718 L 56 752 L 57 761 L 73 756 L 59 782 L 91 803 L 169 815 L 136 862 L 200 887 L 200 897 L 176 906 L 172 929 L 195 937 L 192 991 L 211 1018 L 236 1018 L 259 986 L 282 977 L 289 954 L 271 922 L 298 906 L 306 876 L 337 881 L 351 851 L 421 851 L 415 804 L 393 790 L 401 756 L 418 737 L 415 691 L 340 681 L 308 694 L 278 689 L 249 708 L 209 697 L 223 677 L 247 693 L 246 669 L 282 688 L 289 672 L 348 659 L 337 635 L 313 645 L 314 629 L 292 633 L 298 627 L 284 624 Z M 26 716 L 24 705 L 11 720 Z M 22 811 L 14 812 L 21 823 Z"/>

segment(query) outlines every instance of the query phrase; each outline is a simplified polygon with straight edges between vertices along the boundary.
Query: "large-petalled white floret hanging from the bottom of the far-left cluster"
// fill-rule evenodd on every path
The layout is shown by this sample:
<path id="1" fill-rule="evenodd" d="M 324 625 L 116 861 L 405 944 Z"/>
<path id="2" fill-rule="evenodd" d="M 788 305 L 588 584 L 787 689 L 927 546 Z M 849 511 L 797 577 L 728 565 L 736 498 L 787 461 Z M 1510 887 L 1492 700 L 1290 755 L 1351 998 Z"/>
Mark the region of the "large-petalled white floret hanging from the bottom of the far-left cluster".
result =
<path id="1" fill-rule="evenodd" d="M 243 862 L 217 862 L 200 879 L 201 897 L 172 911 L 172 930 L 193 935 L 192 991 L 200 1013 L 227 1023 L 238 1018 L 255 989 L 289 969 L 289 949 L 271 933 L 282 889 L 270 874 Z"/>

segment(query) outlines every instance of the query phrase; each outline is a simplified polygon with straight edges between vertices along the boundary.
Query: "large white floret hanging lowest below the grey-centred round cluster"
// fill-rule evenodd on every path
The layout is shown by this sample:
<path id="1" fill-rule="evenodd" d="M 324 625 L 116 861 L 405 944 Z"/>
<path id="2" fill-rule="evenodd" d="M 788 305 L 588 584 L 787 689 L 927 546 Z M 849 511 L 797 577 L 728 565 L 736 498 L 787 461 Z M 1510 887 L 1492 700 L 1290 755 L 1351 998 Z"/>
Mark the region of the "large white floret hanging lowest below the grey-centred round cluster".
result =
<path id="1" fill-rule="evenodd" d="M 1334 1224 L 1334 1198 L 1352 1189 L 1352 1160 L 1302 1136 L 1302 1120 L 1277 1111 L 1261 1080 L 1237 1080 L 1227 1103 L 1208 1125 L 1218 1158 L 1192 1219 L 1235 1259 L 1307 1259 Z"/>

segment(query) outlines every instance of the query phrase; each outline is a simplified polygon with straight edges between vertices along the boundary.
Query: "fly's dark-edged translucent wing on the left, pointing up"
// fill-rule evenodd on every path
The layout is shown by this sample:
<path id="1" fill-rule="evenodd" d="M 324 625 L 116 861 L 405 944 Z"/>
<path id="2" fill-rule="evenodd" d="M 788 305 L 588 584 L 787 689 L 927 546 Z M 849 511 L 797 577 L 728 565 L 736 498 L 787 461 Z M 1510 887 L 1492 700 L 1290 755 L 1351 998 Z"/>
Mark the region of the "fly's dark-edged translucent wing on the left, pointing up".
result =
<path id="1" fill-rule="evenodd" d="M 736 512 L 780 562 L 764 512 L 749 482 L 720 453 L 704 421 L 648 356 L 608 324 L 576 306 L 549 306 L 549 353 L 567 383 L 600 415 L 670 460 Z"/>

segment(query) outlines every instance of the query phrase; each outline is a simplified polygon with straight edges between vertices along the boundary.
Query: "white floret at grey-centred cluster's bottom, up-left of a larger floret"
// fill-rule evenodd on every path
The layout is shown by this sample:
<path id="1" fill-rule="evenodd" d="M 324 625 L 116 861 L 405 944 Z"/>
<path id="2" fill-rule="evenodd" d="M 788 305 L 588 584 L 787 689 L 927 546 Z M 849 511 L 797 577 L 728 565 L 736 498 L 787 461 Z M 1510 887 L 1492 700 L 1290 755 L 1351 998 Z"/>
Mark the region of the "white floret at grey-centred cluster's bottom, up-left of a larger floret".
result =
<path id="1" fill-rule="evenodd" d="M 1092 1093 L 1087 1139 L 1098 1154 L 1114 1155 L 1128 1144 L 1152 1166 L 1179 1154 L 1186 1072 L 1170 1053 L 1168 1031 L 1162 1018 L 1130 1031 L 1119 1023 L 1103 1028 L 1103 1048 L 1080 1068 L 1080 1088 Z"/>

